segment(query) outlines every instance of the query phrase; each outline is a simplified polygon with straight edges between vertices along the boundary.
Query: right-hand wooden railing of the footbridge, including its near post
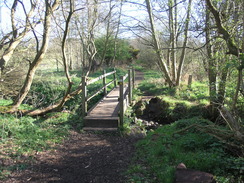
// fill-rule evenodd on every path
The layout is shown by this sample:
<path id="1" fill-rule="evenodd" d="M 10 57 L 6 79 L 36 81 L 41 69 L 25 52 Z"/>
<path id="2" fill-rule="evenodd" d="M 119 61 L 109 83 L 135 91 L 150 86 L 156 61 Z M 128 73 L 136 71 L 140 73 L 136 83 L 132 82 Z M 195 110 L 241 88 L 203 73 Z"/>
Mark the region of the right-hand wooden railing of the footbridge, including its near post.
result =
<path id="1" fill-rule="evenodd" d="M 128 78 L 128 84 L 126 85 L 126 79 Z M 123 126 L 124 123 L 124 113 L 132 103 L 132 91 L 135 88 L 135 71 L 134 69 L 129 69 L 128 73 L 124 76 L 120 76 L 119 80 L 119 119 L 120 125 Z"/>

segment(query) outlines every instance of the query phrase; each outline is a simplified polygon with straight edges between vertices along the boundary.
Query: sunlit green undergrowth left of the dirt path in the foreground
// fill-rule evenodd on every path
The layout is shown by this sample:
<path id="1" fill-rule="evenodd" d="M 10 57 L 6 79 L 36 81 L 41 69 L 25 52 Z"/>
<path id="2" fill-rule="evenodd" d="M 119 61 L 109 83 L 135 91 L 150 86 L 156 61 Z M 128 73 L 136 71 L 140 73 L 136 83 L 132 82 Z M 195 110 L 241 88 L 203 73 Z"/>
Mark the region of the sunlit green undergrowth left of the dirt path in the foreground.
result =
<path id="1" fill-rule="evenodd" d="M 62 142 L 74 123 L 78 123 L 72 118 L 71 113 L 50 113 L 45 118 L 0 115 L 0 159 L 14 162 L 0 167 L 0 179 L 13 170 L 28 167 L 34 153 Z"/>

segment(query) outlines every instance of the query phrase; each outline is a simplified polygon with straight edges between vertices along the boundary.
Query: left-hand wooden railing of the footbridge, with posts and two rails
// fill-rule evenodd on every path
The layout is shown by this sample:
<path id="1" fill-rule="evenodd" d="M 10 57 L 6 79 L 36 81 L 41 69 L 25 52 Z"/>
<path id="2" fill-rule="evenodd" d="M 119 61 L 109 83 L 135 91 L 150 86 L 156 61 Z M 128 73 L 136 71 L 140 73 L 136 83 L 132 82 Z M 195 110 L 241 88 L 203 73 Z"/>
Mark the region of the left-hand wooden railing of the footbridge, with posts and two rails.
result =
<path id="1" fill-rule="evenodd" d="M 113 80 L 107 83 L 106 77 L 109 75 L 113 74 Z M 87 95 L 87 86 L 95 83 L 99 80 L 103 80 L 103 85 L 101 88 L 99 88 L 98 90 L 96 90 L 95 92 L 93 92 L 91 95 Z M 86 76 L 82 77 L 82 117 L 84 118 L 87 115 L 87 102 L 89 100 L 91 100 L 93 97 L 95 97 L 96 95 L 98 95 L 99 93 L 101 93 L 103 91 L 104 96 L 107 94 L 107 87 L 109 85 L 111 85 L 112 83 L 114 83 L 114 88 L 117 86 L 116 85 L 116 70 L 114 69 L 114 71 L 106 73 L 106 71 L 103 71 L 103 74 L 95 79 L 92 80 L 88 80 Z"/>

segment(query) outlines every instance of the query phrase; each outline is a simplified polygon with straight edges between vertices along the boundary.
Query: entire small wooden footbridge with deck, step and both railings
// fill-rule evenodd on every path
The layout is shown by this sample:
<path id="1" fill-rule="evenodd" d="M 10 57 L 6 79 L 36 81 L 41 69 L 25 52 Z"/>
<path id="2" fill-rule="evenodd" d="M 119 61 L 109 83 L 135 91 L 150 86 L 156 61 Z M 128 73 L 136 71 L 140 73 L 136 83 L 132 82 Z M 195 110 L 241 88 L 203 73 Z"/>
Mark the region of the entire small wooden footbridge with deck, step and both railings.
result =
<path id="1" fill-rule="evenodd" d="M 107 82 L 107 77 L 113 75 L 113 79 Z M 111 77 L 111 76 L 110 76 Z M 87 86 L 102 80 L 102 87 L 97 91 L 88 94 Z M 113 89 L 108 93 L 107 87 L 113 84 Z M 88 80 L 82 78 L 82 114 L 84 119 L 84 130 L 115 131 L 123 125 L 124 112 L 132 102 L 132 91 L 135 87 L 134 69 L 129 69 L 128 73 L 120 76 L 118 85 L 116 70 Z M 87 111 L 87 102 L 93 97 L 103 92 L 104 97 Z"/>

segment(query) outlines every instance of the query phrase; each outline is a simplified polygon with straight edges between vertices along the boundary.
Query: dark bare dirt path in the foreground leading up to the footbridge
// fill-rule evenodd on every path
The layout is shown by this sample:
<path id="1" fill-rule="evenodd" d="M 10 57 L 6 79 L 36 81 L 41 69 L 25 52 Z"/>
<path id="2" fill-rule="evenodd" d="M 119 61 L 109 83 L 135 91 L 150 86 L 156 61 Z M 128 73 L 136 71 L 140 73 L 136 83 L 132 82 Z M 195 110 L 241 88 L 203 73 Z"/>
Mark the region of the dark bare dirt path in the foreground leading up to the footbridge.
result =
<path id="1" fill-rule="evenodd" d="M 15 171 L 3 183 L 118 183 L 128 182 L 126 170 L 137 137 L 117 133 L 77 133 L 55 150 L 35 155 L 26 170 Z"/>

